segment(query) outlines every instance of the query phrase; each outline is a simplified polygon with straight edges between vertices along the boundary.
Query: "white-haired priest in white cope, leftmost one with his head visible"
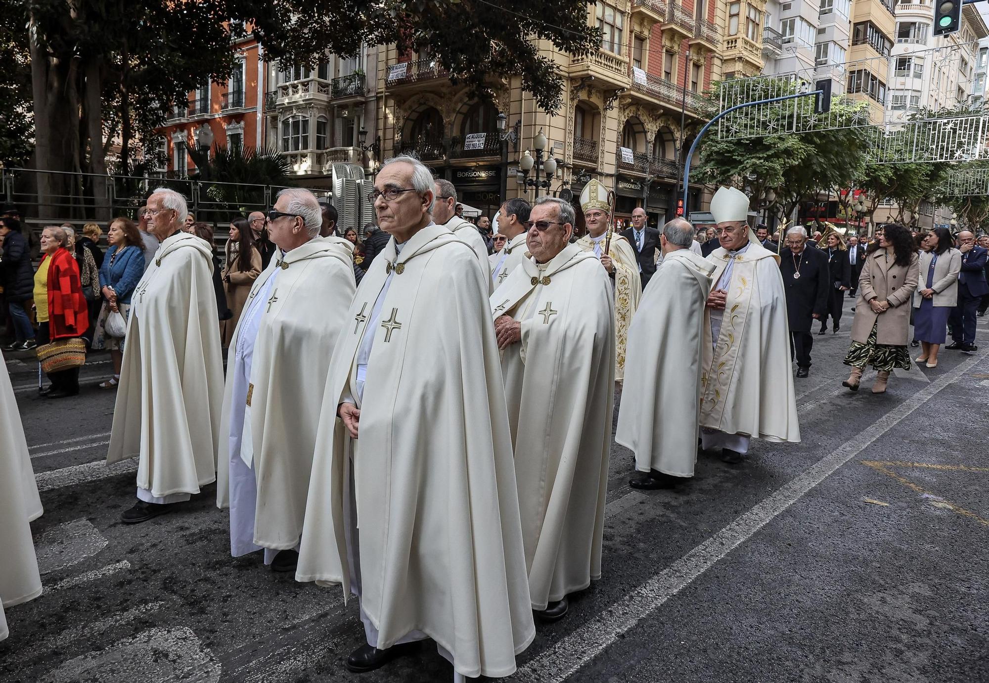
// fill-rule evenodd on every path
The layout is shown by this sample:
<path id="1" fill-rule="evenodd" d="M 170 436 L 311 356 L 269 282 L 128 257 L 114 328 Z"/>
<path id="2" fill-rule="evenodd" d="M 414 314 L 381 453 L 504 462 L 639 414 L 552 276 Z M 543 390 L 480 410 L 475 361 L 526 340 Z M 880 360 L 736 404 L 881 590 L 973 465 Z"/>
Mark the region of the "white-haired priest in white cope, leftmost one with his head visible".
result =
<path id="1" fill-rule="evenodd" d="M 213 288 L 213 245 L 183 233 L 185 198 L 158 189 L 148 231 L 161 243 L 131 300 L 107 463 L 138 456 L 137 504 L 146 522 L 216 481 L 224 360 Z"/>

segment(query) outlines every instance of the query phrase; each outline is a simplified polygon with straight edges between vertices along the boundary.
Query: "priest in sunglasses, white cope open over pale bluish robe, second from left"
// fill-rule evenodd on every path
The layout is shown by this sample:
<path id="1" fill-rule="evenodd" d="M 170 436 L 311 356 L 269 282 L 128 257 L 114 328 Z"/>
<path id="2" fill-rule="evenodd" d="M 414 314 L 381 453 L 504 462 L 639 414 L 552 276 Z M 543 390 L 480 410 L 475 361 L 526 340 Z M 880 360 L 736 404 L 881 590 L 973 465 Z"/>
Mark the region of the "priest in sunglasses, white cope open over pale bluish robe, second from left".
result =
<path id="1" fill-rule="evenodd" d="M 320 238 L 309 190 L 278 193 L 278 250 L 254 281 L 230 342 L 217 506 L 230 508 L 234 557 L 264 548 L 274 571 L 299 558 L 319 406 L 333 344 L 354 297 L 353 246 Z"/>

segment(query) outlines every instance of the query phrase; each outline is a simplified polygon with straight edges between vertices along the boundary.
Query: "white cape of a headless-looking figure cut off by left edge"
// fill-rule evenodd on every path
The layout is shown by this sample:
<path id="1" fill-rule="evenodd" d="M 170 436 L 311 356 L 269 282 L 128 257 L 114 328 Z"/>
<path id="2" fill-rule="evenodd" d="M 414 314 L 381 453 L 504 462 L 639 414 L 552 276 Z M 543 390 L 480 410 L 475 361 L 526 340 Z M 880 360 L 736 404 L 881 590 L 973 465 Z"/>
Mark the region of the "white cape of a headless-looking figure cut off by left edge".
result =
<path id="1" fill-rule="evenodd" d="M 42 594 L 31 522 L 42 516 L 42 500 L 31 467 L 24 426 L 0 356 L 0 640 L 9 634 L 4 609 Z"/>

